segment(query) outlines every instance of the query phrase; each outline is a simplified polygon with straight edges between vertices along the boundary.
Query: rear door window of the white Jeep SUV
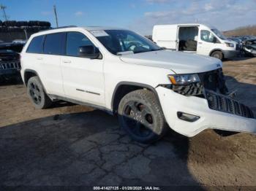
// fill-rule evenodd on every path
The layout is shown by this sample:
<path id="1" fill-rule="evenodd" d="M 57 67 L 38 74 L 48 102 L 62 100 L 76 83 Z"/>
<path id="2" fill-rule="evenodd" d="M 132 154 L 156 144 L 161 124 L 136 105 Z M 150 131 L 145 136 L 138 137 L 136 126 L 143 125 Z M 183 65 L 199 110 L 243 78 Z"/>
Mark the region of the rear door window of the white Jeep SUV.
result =
<path id="1" fill-rule="evenodd" d="M 64 55 L 65 36 L 66 33 L 46 35 L 44 53 L 48 55 Z"/>

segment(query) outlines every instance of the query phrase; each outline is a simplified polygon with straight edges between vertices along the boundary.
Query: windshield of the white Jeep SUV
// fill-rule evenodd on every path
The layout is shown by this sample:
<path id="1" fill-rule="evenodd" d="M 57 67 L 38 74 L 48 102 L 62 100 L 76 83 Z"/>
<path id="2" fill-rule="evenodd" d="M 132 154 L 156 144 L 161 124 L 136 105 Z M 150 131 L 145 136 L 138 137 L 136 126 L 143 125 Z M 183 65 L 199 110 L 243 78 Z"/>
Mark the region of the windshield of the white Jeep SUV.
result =
<path id="1" fill-rule="evenodd" d="M 140 53 L 161 50 L 157 44 L 151 42 L 135 32 L 126 30 L 91 31 L 99 42 L 114 55 L 125 53 Z"/>

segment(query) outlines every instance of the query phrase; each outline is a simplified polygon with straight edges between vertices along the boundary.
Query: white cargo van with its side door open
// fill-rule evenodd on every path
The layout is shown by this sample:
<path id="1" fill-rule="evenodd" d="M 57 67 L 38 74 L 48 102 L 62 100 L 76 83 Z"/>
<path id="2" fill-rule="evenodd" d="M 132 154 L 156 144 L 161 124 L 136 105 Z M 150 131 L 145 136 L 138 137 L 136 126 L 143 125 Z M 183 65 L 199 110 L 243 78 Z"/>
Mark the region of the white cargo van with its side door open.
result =
<path id="1" fill-rule="evenodd" d="M 232 58 L 238 54 L 238 44 L 227 39 L 217 28 L 203 24 L 154 26 L 152 39 L 160 47 L 194 52 L 214 58 Z"/>

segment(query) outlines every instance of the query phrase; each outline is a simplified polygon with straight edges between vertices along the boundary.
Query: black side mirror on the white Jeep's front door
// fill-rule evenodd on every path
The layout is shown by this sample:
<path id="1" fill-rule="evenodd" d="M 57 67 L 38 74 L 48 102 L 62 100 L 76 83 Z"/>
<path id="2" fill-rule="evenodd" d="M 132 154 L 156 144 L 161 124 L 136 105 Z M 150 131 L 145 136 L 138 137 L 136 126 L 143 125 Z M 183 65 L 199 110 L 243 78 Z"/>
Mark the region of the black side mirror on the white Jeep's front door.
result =
<path id="1" fill-rule="evenodd" d="M 91 59 L 100 58 L 99 49 L 92 45 L 79 47 L 78 55 L 83 58 L 91 58 Z"/>

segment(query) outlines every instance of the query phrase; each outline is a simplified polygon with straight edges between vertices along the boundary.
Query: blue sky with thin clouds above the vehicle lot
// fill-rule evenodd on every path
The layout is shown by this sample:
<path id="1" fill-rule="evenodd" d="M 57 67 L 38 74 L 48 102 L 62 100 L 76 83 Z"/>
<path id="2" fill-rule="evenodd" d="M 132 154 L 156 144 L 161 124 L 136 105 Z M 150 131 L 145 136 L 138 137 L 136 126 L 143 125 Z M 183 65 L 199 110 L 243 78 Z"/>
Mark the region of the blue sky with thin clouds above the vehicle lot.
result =
<path id="1" fill-rule="evenodd" d="M 140 34 L 151 34 L 155 24 L 206 23 L 222 31 L 256 24 L 256 0 L 0 0 L 0 4 L 7 6 L 10 20 L 48 20 L 54 27 L 56 4 L 61 26 L 118 26 Z"/>

